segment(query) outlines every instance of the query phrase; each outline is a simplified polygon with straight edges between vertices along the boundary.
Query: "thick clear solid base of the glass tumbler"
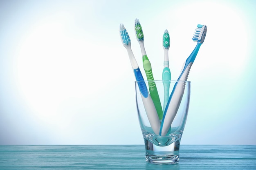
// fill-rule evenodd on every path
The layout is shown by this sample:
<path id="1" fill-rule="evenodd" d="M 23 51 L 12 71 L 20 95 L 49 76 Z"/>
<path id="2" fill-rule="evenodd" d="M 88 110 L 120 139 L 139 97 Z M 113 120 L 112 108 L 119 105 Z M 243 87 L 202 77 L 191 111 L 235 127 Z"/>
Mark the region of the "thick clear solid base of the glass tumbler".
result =
<path id="1" fill-rule="evenodd" d="M 180 161 L 180 140 L 168 146 L 156 146 L 145 140 L 146 162 L 158 165 L 171 165 Z"/>

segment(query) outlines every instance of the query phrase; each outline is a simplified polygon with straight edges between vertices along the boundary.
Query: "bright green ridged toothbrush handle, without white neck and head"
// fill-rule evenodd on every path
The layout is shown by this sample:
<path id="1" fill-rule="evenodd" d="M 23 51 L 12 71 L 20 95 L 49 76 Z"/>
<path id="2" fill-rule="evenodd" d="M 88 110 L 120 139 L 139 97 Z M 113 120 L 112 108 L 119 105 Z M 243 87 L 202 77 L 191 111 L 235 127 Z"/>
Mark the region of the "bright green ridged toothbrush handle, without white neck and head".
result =
<path id="1" fill-rule="evenodd" d="M 160 102 L 160 98 L 159 98 L 159 95 L 158 95 L 156 84 L 155 84 L 155 82 L 153 82 L 154 77 L 153 77 L 153 73 L 152 73 L 152 69 L 151 69 L 151 64 L 148 60 L 147 55 L 143 55 L 142 58 L 143 58 L 143 67 L 144 67 L 144 70 L 146 72 L 147 79 L 148 79 L 148 81 L 152 81 L 152 82 L 148 82 L 149 92 L 150 92 L 150 95 L 153 99 L 155 108 L 157 110 L 159 120 L 162 120 L 163 110 L 162 110 L 162 105 L 161 105 L 161 102 Z"/>

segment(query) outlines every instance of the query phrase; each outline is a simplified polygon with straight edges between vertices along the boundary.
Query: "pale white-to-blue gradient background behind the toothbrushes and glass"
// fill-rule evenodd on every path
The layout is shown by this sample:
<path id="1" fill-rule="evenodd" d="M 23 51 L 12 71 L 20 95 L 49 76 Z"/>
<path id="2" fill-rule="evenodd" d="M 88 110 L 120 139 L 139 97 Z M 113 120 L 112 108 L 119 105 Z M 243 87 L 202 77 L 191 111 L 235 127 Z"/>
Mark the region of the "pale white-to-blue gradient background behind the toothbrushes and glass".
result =
<path id="1" fill-rule="evenodd" d="M 1 0 L 0 144 L 144 144 L 119 38 L 123 23 L 142 68 L 139 18 L 155 79 L 164 30 L 175 80 L 194 29 L 207 25 L 182 144 L 255 145 L 255 9 L 254 0 Z"/>

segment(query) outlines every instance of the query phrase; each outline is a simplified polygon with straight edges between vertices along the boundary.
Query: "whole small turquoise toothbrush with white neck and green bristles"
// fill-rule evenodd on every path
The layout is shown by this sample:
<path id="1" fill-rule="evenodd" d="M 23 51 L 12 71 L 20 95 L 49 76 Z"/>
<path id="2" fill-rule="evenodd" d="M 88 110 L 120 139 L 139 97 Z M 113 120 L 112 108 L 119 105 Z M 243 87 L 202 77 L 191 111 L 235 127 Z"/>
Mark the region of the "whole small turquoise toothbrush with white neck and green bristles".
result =
<path id="1" fill-rule="evenodd" d="M 164 48 L 164 69 L 162 73 L 162 79 L 164 84 L 164 105 L 163 110 L 165 110 L 166 104 L 169 99 L 169 91 L 170 91 L 170 84 L 169 82 L 171 80 L 171 71 L 169 68 L 169 60 L 168 60 L 168 50 L 170 47 L 170 35 L 168 33 L 168 30 L 166 29 L 164 31 L 163 35 L 163 48 Z"/>

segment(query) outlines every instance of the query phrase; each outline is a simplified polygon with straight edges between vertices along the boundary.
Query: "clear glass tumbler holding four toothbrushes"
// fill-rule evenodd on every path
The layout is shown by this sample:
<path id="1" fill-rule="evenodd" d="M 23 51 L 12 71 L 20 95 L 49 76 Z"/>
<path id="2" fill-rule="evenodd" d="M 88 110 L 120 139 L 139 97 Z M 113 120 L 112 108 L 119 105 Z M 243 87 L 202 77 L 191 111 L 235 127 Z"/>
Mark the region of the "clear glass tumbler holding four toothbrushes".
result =
<path id="1" fill-rule="evenodd" d="M 190 98 L 189 81 L 136 81 L 136 104 L 146 161 L 175 164 Z"/>

